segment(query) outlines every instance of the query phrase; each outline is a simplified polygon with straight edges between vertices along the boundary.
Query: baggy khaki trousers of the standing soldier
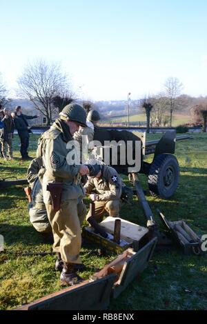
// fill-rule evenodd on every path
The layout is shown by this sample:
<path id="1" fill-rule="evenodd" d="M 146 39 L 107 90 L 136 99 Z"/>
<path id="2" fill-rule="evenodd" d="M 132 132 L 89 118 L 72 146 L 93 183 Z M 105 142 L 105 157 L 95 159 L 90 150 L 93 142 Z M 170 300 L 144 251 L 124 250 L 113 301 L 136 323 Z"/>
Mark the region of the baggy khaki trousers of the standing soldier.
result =
<path id="1" fill-rule="evenodd" d="M 79 208 L 83 207 L 79 204 Z M 86 208 L 86 207 L 85 207 Z M 48 219 L 54 236 L 53 251 L 61 254 L 66 263 L 81 263 L 81 221 L 78 216 L 77 199 L 61 202 L 58 212 L 52 210 L 52 205 L 46 204 Z"/>

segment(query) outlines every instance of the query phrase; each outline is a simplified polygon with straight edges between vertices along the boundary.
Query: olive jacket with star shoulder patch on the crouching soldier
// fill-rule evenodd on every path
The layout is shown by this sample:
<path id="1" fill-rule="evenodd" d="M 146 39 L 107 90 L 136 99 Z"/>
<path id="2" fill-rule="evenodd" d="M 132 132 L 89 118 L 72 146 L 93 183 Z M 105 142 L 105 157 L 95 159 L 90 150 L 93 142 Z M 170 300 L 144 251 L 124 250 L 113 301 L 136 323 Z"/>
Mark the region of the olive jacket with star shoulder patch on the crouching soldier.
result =
<path id="1" fill-rule="evenodd" d="M 108 166 L 103 165 L 101 170 L 101 178 L 90 177 L 84 185 L 87 194 L 98 194 L 99 201 L 110 201 L 121 197 L 122 179 L 117 171 Z"/>

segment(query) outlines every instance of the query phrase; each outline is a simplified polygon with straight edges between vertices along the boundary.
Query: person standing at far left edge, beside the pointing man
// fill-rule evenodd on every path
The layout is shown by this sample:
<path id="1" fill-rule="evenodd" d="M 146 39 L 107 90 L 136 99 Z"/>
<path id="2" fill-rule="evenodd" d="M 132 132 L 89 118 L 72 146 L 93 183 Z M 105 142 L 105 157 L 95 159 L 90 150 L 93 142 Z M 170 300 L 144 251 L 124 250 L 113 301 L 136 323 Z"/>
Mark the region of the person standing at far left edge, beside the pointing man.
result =
<path id="1" fill-rule="evenodd" d="M 12 152 L 12 139 L 14 134 L 14 121 L 11 117 L 10 110 L 4 108 L 3 110 L 4 117 L 2 119 L 3 122 L 3 132 L 1 132 L 1 150 L 3 154 L 3 159 L 5 160 L 13 160 L 13 152 Z M 8 146 L 8 156 L 7 156 L 7 146 Z"/>

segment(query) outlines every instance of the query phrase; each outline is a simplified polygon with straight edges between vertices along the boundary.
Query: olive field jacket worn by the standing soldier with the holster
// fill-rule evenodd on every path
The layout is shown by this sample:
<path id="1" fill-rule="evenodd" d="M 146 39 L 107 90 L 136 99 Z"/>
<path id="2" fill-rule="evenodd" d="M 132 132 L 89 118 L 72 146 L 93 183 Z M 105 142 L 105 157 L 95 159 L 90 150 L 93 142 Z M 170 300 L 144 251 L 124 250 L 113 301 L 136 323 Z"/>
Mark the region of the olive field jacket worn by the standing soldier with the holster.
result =
<path id="1" fill-rule="evenodd" d="M 71 149 L 67 149 L 68 141 L 73 141 L 70 128 L 57 119 L 50 130 L 44 132 L 39 139 L 37 157 L 42 156 L 45 172 L 42 177 L 43 201 L 52 204 L 50 192 L 46 190 L 48 183 L 62 182 L 61 202 L 83 198 L 84 192 L 79 183 L 78 173 L 81 165 L 68 163 L 66 158 Z"/>

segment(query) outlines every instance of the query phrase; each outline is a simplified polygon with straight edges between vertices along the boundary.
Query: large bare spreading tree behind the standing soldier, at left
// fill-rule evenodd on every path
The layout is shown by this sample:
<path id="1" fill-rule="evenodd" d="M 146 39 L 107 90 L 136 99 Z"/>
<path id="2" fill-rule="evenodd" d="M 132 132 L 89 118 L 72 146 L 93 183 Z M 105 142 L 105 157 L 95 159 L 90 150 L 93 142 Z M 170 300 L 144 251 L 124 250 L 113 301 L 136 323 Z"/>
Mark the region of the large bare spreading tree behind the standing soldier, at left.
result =
<path id="1" fill-rule="evenodd" d="M 68 76 L 61 72 L 59 63 L 47 63 L 43 59 L 28 63 L 18 79 L 20 97 L 30 99 L 50 125 L 57 111 L 54 98 L 70 92 Z"/>

